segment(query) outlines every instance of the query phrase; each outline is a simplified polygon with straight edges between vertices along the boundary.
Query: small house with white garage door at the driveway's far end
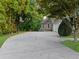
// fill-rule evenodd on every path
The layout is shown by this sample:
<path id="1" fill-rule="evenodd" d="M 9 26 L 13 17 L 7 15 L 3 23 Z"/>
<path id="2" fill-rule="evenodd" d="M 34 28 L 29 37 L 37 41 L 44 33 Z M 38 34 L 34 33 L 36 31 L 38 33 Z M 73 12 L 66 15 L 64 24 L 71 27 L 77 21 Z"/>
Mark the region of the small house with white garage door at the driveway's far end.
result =
<path id="1" fill-rule="evenodd" d="M 56 18 L 48 18 L 45 16 L 41 22 L 41 31 L 55 31 L 58 32 L 58 27 L 62 20 Z"/>

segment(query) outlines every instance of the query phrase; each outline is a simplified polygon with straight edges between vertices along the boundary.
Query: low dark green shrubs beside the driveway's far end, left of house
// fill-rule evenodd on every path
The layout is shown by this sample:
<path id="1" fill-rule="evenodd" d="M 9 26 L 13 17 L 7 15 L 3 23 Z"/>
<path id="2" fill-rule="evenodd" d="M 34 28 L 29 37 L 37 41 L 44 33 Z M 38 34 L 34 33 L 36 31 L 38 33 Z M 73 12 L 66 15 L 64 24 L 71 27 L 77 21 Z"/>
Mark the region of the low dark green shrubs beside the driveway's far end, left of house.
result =
<path id="1" fill-rule="evenodd" d="M 19 24 L 19 29 L 21 31 L 38 31 L 40 28 L 40 20 L 31 20 L 29 22 L 25 21 Z"/>

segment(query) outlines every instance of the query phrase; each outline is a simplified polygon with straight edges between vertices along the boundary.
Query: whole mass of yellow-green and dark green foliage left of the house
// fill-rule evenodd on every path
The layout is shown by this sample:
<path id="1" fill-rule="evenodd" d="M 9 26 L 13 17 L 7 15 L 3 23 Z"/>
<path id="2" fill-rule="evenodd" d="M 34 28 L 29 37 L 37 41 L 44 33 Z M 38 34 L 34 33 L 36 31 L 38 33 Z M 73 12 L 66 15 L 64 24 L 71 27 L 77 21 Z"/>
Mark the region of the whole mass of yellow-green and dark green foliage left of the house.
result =
<path id="1" fill-rule="evenodd" d="M 38 14 L 35 6 L 33 0 L 0 0 L 0 33 L 38 30 L 42 14 Z"/>

